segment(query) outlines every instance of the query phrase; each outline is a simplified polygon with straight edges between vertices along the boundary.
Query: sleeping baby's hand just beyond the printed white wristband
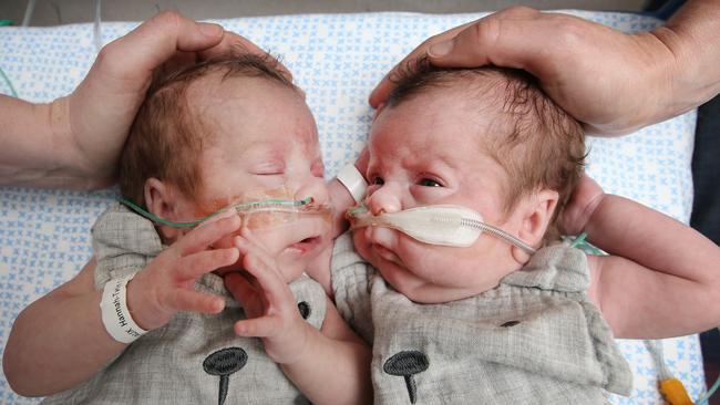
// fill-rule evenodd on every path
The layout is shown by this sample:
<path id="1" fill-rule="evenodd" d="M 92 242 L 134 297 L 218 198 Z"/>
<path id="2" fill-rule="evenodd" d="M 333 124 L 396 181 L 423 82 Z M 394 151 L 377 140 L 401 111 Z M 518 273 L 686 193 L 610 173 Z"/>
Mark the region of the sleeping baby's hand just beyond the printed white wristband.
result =
<path id="1" fill-rule="evenodd" d="M 235 247 L 208 247 L 239 227 L 239 217 L 230 216 L 193 229 L 137 272 L 127 284 L 127 305 L 135 322 L 153 330 L 178 311 L 223 311 L 225 301 L 220 297 L 197 292 L 193 285 L 203 274 L 238 261 Z"/>

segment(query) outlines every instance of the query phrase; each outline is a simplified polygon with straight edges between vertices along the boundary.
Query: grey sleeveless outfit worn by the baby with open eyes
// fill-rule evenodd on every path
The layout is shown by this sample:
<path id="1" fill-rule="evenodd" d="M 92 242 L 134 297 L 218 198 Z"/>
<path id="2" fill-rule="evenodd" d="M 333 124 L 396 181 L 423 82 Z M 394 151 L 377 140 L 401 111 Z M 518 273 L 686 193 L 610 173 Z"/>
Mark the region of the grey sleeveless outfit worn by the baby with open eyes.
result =
<path id="1" fill-rule="evenodd" d="M 338 310 L 373 344 L 376 404 L 409 404 L 413 391 L 416 404 L 601 404 L 605 390 L 630 393 L 631 372 L 587 299 L 577 249 L 541 249 L 497 288 L 443 304 L 392 290 L 348 235 L 332 263 Z M 405 378 L 418 361 L 428 368 Z"/>

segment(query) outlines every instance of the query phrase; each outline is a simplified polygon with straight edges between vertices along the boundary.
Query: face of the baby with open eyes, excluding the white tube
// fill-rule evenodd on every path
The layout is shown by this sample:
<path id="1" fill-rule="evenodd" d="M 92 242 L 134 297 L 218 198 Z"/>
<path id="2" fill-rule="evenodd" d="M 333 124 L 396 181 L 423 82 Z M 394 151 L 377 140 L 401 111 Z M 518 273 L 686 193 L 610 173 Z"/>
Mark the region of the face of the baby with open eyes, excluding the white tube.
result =
<path id="1" fill-rule="evenodd" d="M 372 214 L 426 205 L 460 205 L 517 235 L 521 218 L 503 210 L 508 176 L 482 148 L 490 117 L 459 106 L 452 92 L 418 95 L 385 108 L 370 134 L 367 205 Z M 480 135 L 479 135 L 480 134 Z M 354 245 L 399 292 L 436 303 L 492 289 L 518 263 L 511 246 L 481 235 L 467 248 L 432 246 L 382 227 L 354 231 Z"/>

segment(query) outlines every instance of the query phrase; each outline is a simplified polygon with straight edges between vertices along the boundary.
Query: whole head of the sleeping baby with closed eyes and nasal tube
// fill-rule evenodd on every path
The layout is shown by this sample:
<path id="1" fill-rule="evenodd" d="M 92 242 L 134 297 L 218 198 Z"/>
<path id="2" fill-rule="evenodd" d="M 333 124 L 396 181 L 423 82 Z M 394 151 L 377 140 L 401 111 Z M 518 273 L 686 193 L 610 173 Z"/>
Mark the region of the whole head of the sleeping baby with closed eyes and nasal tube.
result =
<path id="1" fill-rule="evenodd" d="M 302 92 L 277 66 L 269 56 L 240 54 L 154 80 L 123 150 L 123 196 L 169 221 L 241 201 L 312 197 L 325 204 L 315 120 Z M 329 228 L 321 216 L 250 218 L 246 224 L 288 269 L 288 279 L 305 270 Z M 167 245 L 188 231 L 157 230 Z"/>

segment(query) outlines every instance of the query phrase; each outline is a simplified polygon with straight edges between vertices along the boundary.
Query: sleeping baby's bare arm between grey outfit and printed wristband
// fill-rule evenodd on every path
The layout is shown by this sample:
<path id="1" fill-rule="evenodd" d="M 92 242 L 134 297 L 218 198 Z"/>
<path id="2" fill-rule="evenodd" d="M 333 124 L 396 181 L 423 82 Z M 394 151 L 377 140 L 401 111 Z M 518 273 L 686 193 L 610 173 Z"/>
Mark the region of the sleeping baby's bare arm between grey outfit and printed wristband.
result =
<path id="1" fill-rule="evenodd" d="M 4 375 L 21 395 L 42 396 L 73 387 L 125 346 L 104 330 L 100 291 L 51 297 L 35 301 L 18 316 L 4 349 Z"/>

